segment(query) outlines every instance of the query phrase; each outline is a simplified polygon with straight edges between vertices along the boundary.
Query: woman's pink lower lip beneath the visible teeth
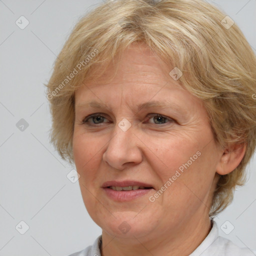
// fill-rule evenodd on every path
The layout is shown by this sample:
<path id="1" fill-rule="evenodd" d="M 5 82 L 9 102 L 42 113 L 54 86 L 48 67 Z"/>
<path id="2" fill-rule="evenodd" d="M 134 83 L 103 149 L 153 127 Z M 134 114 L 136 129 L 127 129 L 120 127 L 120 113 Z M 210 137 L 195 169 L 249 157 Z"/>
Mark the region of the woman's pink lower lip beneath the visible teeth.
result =
<path id="1" fill-rule="evenodd" d="M 150 192 L 153 188 L 149 189 L 136 189 L 136 190 L 120 190 L 116 191 L 108 187 L 103 188 L 107 196 L 116 201 L 129 201 L 139 196 L 145 195 Z"/>

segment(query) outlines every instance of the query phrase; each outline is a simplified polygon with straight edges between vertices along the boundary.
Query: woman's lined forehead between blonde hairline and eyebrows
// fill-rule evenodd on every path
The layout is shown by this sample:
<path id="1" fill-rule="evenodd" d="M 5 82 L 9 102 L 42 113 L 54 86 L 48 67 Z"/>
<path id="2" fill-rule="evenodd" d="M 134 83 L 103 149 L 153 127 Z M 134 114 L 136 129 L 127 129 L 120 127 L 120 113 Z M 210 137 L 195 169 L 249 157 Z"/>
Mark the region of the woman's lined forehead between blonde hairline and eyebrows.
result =
<path id="1" fill-rule="evenodd" d="M 148 101 L 158 101 L 157 104 L 168 101 L 165 103 L 180 108 L 184 103 L 192 104 L 192 101 L 198 104 L 197 97 L 185 90 L 178 80 L 172 79 L 169 75 L 171 68 L 146 44 L 131 45 L 123 51 L 119 61 L 114 59 L 99 78 L 84 82 L 84 86 L 75 91 L 75 107 L 96 106 L 96 102 L 101 106 L 105 103 L 108 106 L 120 105 L 121 101 L 137 105 L 137 109 Z"/>

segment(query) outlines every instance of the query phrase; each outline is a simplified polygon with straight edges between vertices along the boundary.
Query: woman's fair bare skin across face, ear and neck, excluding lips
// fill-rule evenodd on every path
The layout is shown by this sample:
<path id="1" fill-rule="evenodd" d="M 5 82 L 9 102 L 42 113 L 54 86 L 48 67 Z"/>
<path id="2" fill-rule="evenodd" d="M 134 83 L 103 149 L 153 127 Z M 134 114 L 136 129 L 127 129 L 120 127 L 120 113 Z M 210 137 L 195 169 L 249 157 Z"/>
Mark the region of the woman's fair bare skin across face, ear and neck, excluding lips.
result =
<path id="1" fill-rule="evenodd" d="M 109 66 L 97 81 L 75 91 L 74 162 L 86 209 L 102 228 L 103 256 L 189 255 L 210 230 L 208 213 L 219 174 L 232 171 L 244 155 L 244 146 L 230 145 L 226 153 L 215 143 L 201 100 L 169 76 L 171 69 L 145 44 L 134 44 L 124 51 L 111 81 L 106 79 L 113 70 Z M 92 100 L 105 107 L 84 104 Z M 136 111 L 153 100 L 178 109 Z M 92 113 L 100 116 L 82 123 Z M 118 126 L 123 118 L 131 124 L 126 131 Z M 150 201 L 196 151 L 200 156 Z M 109 180 L 141 181 L 153 188 L 115 200 L 102 187 Z M 123 221 L 130 228 L 125 233 L 118 228 Z"/>

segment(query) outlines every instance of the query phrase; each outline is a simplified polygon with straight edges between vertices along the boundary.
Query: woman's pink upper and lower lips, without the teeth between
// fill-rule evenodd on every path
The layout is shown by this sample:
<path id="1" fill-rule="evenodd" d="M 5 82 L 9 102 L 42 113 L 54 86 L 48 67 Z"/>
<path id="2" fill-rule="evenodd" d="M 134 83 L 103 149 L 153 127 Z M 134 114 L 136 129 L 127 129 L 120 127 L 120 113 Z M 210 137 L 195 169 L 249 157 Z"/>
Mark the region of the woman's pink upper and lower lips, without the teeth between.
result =
<path id="1" fill-rule="evenodd" d="M 136 189 L 136 190 L 120 190 L 116 191 L 108 186 L 132 186 L 132 185 L 139 185 L 139 186 L 144 186 L 144 187 L 151 187 L 147 189 Z M 144 182 L 140 181 L 135 181 L 135 180 L 124 180 L 124 181 L 106 181 L 102 184 L 102 188 L 106 195 L 111 198 L 114 201 L 130 201 L 133 200 L 137 197 L 143 196 L 150 191 L 152 191 L 153 186 Z"/>

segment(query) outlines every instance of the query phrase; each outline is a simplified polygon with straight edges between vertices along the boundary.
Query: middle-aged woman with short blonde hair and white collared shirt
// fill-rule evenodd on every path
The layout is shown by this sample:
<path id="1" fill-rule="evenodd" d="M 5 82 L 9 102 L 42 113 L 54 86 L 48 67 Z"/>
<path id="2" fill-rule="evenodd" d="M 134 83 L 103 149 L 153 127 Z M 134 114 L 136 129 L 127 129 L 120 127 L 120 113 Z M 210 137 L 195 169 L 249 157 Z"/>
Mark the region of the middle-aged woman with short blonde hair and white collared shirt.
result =
<path id="1" fill-rule="evenodd" d="M 102 228 L 72 255 L 253 255 L 213 217 L 244 183 L 256 58 L 201 0 L 109 1 L 82 17 L 47 84 L 51 142 Z"/>

